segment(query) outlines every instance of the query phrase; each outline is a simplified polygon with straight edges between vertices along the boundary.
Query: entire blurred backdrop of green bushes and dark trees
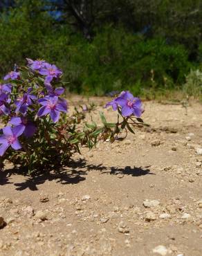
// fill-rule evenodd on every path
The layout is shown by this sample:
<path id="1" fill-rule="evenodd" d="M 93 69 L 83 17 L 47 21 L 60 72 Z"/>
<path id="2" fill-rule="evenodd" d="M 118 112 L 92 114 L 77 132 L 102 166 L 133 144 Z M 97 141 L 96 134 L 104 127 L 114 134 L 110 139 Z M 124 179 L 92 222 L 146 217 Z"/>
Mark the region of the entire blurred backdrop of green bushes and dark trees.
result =
<path id="1" fill-rule="evenodd" d="M 10 5 L 10 8 L 8 7 Z M 0 74 L 30 56 L 71 91 L 173 89 L 201 62 L 201 1 L 16 0 L 0 10 Z M 3 10 L 4 6 L 4 10 Z"/>

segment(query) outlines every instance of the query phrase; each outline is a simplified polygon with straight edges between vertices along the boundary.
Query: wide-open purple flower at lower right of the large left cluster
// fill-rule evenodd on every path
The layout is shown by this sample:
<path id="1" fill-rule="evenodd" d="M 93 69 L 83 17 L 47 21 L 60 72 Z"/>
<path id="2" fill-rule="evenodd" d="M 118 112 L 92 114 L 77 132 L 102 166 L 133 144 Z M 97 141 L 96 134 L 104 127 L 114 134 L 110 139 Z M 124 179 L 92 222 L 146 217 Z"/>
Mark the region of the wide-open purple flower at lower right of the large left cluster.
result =
<path id="1" fill-rule="evenodd" d="M 38 100 L 42 107 L 39 109 L 37 116 L 46 116 L 50 114 L 50 118 L 53 122 L 59 120 L 60 111 L 67 111 L 67 102 L 64 99 L 60 99 L 57 96 L 42 98 Z"/>

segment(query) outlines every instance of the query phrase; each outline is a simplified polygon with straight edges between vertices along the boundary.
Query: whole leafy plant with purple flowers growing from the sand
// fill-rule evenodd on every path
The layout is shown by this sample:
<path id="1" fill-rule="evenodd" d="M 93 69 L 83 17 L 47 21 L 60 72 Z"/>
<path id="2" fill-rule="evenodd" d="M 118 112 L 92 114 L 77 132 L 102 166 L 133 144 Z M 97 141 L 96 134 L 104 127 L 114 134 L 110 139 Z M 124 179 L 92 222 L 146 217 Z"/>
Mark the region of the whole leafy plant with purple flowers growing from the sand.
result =
<path id="1" fill-rule="evenodd" d="M 143 125 L 142 102 L 129 91 L 105 106 L 118 111 L 117 122 L 107 122 L 103 113 L 102 126 L 86 122 L 93 104 L 76 106 L 68 113 L 68 102 L 61 97 L 62 71 L 44 60 L 27 60 L 27 66 L 15 66 L 0 86 L 0 115 L 6 124 L 0 132 L 1 168 L 7 160 L 26 174 L 58 169 L 68 165 L 80 147 L 91 149 L 107 139 L 113 143 L 120 132 L 134 133 L 133 126 Z"/>

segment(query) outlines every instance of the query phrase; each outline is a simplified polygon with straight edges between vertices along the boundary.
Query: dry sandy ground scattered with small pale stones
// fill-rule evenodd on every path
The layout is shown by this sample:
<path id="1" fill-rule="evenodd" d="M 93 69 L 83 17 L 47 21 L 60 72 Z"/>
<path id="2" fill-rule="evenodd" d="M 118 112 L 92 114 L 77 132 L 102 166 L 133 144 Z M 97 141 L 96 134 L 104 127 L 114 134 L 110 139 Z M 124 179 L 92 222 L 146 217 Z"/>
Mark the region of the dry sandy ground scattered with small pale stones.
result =
<path id="1" fill-rule="evenodd" d="M 202 255 L 202 106 L 144 105 L 150 128 L 61 175 L 0 172 L 0 255 Z"/>

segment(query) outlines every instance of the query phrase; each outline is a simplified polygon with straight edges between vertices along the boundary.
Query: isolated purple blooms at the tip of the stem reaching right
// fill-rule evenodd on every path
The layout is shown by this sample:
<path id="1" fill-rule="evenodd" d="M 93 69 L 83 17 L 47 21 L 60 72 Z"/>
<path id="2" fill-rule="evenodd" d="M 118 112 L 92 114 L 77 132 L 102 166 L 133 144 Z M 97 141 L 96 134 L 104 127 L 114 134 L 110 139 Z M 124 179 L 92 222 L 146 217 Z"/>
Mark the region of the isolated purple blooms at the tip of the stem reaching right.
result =
<path id="1" fill-rule="evenodd" d="M 115 111 L 120 107 L 122 116 L 140 117 L 143 113 L 143 104 L 139 98 L 134 97 L 129 91 L 122 91 L 118 97 L 108 102 L 105 107 L 112 107 Z"/>

